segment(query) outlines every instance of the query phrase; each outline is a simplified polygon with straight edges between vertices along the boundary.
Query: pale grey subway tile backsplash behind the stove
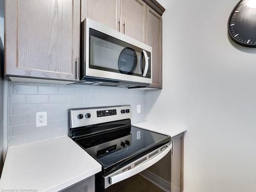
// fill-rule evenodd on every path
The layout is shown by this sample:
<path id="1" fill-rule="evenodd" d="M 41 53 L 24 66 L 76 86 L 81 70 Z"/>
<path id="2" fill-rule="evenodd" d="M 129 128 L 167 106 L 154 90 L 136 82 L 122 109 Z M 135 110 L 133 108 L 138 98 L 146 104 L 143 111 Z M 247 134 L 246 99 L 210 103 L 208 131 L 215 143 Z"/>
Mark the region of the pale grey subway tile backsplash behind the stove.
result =
<path id="1" fill-rule="evenodd" d="M 65 136 L 68 109 L 131 104 L 132 121 L 145 119 L 145 91 L 71 84 L 9 83 L 9 146 Z M 137 104 L 141 113 L 137 114 Z M 35 113 L 47 111 L 48 125 L 36 127 Z"/>

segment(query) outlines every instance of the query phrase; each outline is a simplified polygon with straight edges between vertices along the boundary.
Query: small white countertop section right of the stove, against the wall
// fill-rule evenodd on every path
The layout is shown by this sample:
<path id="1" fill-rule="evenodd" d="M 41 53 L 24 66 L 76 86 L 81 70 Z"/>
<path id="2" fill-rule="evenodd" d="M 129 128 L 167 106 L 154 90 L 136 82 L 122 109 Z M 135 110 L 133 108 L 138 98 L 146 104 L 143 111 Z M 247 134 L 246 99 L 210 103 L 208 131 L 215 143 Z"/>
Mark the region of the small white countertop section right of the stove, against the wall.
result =
<path id="1" fill-rule="evenodd" d="M 187 131 L 186 127 L 168 123 L 166 120 L 143 120 L 134 122 L 132 125 L 142 129 L 169 135 L 170 137 L 174 137 Z"/>

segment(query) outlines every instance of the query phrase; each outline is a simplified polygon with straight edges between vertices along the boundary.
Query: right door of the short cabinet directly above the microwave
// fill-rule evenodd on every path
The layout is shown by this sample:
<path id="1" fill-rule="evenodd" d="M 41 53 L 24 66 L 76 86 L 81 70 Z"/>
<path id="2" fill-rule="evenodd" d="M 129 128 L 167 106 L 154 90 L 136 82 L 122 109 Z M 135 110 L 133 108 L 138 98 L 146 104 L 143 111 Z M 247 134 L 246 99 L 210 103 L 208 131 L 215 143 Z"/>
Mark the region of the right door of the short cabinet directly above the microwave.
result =
<path id="1" fill-rule="evenodd" d="M 145 42 L 146 4 L 142 0 L 121 0 L 121 32 Z"/>

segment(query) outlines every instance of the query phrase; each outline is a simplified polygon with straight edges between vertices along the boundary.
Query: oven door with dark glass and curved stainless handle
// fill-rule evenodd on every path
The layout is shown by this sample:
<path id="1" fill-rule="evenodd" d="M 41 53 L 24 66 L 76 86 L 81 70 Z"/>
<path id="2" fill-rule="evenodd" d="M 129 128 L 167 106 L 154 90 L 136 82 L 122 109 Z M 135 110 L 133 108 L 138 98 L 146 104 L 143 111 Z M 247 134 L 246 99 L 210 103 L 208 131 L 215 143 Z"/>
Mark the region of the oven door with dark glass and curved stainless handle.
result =
<path id="1" fill-rule="evenodd" d="M 172 143 L 167 143 L 116 172 L 103 177 L 105 191 L 168 190 L 170 188 L 171 149 Z M 163 166 L 164 168 L 162 170 L 164 171 L 159 172 L 159 167 Z M 169 168 L 167 168 L 168 166 Z M 152 190 L 152 188 L 156 190 Z"/>

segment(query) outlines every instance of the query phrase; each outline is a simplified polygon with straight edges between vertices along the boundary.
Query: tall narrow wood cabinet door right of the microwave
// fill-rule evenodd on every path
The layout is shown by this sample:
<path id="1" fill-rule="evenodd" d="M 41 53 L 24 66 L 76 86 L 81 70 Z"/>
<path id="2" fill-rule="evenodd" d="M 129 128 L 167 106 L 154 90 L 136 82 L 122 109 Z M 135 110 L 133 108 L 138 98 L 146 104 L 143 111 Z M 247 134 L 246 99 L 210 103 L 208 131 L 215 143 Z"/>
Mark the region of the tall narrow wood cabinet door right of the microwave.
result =
<path id="1" fill-rule="evenodd" d="M 146 6 L 146 44 L 152 47 L 152 84 L 162 89 L 162 17 Z"/>

